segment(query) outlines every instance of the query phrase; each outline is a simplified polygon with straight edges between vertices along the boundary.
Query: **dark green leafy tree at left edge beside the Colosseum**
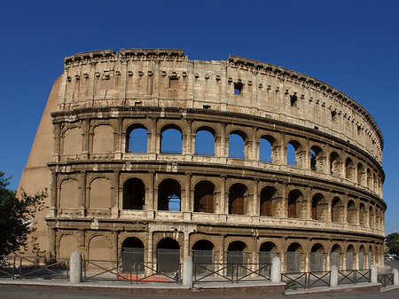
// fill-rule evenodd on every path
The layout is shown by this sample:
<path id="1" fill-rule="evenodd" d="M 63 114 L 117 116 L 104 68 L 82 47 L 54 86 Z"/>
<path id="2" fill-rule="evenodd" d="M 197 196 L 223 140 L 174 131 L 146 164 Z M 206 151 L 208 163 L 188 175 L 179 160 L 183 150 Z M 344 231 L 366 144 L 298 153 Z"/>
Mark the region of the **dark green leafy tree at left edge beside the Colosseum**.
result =
<path id="1" fill-rule="evenodd" d="M 44 189 L 34 196 L 22 191 L 18 199 L 16 192 L 7 188 L 10 179 L 0 171 L 0 256 L 27 248 L 28 236 L 35 232 L 35 213 L 44 208 L 43 200 L 47 197 L 47 190 Z M 35 247 L 35 244 L 32 245 Z"/>

